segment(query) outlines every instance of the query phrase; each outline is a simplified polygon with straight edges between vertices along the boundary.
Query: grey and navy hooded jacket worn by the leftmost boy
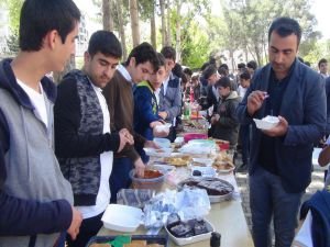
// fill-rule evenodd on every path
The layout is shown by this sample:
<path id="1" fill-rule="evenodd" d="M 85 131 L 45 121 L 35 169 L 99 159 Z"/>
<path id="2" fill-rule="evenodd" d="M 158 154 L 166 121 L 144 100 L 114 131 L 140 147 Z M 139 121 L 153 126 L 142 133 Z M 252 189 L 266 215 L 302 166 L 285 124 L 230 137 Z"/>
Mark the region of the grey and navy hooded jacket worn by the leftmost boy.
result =
<path id="1" fill-rule="evenodd" d="M 0 246 L 29 246 L 35 238 L 35 246 L 53 246 L 73 217 L 73 191 L 53 150 L 56 88 L 42 79 L 45 126 L 10 63 L 0 64 Z"/>

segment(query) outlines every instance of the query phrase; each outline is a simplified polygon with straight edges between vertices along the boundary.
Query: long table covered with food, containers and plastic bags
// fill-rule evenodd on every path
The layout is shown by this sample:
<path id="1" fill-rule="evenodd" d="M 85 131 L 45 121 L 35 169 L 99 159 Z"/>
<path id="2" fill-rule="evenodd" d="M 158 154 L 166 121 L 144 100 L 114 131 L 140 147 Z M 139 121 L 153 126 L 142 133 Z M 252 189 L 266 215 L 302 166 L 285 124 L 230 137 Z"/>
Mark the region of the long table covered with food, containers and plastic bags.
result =
<path id="1" fill-rule="evenodd" d="M 145 148 L 144 178 L 131 171 L 132 188 L 109 204 L 88 246 L 253 246 L 227 143 L 198 134 Z"/>

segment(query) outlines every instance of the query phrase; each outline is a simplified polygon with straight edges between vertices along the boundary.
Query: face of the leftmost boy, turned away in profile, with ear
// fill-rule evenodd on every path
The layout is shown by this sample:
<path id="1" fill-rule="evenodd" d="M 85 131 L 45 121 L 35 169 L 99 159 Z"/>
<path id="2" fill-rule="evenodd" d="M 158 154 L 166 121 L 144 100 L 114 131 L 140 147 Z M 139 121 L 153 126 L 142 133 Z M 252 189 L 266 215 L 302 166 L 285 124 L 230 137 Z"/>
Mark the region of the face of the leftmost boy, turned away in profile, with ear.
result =
<path id="1" fill-rule="evenodd" d="M 53 45 L 53 65 L 52 69 L 53 71 L 63 71 L 65 68 L 66 63 L 69 60 L 70 56 L 75 54 L 76 52 L 76 38 L 78 36 L 78 22 L 76 23 L 75 29 L 68 33 L 68 35 L 65 38 L 65 43 L 63 44 L 62 38 L 57 31 L 52 31 L 52 34 L 50 35 Z"/>

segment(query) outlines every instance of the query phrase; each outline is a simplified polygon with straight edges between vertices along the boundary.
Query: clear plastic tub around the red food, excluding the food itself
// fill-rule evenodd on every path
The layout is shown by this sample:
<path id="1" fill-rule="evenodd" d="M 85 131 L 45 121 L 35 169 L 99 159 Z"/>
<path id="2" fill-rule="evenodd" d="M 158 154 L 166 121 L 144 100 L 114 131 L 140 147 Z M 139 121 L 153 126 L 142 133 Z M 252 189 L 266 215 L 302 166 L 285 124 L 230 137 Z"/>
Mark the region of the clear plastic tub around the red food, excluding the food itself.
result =
<path id="1" fill-rule="evenodd" d="M 132 187 L 134 189 L 150 189 L 150 190 L 161 191 L 165 181 L 166 171 L 156 167 L 146 169 L 145 173 L 148 171 L 158 171 L 161 176 L 156 178 L 136 178 L 135 169 L 133 169 L 130 171 L 130 178 L 132 179 Z"/>

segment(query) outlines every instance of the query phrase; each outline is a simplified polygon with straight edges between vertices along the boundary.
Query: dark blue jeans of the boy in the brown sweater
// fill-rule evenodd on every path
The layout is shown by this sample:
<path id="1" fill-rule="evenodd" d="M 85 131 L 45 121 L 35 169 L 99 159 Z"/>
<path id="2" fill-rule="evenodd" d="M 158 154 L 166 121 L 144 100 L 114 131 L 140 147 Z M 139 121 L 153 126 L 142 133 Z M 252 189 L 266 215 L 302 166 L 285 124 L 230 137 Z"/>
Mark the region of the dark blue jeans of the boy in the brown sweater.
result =
<path id="1" fill-rule="evenodd" d="M 130 188 L 132 180 L 129 176 L 133 169 L 133 162 L 130 158 L 114 158 L 112 172 L 110 176 L 111 203 L 117 203 L 117 193 L 120 189 Z"/>

